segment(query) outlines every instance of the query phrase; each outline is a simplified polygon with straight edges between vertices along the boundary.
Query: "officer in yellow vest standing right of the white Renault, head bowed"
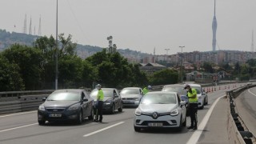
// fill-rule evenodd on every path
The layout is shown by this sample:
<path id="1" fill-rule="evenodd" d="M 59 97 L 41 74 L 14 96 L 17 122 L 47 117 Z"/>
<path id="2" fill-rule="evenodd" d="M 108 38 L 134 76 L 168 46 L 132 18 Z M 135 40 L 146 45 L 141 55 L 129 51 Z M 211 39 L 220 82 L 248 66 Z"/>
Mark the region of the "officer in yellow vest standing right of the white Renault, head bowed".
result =
<path id="1" fill-rule="evenodd" d="M 186 85 L 184 89 L 187 90 L 187 96 L 189 98 L 189 110 L 191 125 L 188 129 L 198 130 L 198 96 L 197 90 L 192 89 L 190 85 Z"/>

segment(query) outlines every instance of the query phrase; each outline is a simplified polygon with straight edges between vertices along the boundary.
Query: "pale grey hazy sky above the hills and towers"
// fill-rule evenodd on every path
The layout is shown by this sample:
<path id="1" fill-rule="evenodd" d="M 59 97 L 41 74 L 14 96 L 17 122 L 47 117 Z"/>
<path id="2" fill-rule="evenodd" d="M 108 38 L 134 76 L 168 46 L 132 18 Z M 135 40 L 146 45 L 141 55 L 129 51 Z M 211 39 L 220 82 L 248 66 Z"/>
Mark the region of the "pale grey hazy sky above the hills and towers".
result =
<path id="1" fill-rule="evenodd" d="M 57 0 L 1 0 L 0 29 L 56 35 Z M 58 34 L 73 42 L 153 54 L 212 50 L 214 0 L 58 0 Z M 216 0 L 216 50 L 250 51 L 256 38 L 255 0 Z M 180 48 L 179 46 L 185 46 Z"/>

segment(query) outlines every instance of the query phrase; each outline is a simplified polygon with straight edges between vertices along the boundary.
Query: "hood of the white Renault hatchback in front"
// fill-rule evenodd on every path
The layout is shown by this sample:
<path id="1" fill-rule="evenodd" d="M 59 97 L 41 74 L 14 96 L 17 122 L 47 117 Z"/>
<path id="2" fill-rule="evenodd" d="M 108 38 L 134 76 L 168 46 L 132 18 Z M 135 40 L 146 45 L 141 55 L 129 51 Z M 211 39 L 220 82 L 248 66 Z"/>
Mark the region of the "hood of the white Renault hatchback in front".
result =
<path id="1" fill-rule="evenodd" d="M 166 113 L 174 110 L 177 107 L 176 104 L 140 104 L 138 109 L 142 111 L 142 113 Z"/>

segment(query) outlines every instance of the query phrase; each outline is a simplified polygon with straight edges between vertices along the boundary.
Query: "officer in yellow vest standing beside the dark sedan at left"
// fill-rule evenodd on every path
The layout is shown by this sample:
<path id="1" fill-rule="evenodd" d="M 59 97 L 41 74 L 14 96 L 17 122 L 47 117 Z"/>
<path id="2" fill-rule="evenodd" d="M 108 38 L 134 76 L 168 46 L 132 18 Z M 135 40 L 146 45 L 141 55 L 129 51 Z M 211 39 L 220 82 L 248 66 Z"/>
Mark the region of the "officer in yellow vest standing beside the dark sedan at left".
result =
<path id="1" fill-rule="evenodd" d="M 102 122 L 102 108 L 103 108 L 103 99 L 104 99 L 104 94 L 102 90 L 102 86 L 100 84 L 95 86 L 96 89 L 98 89 L 98 94 L 97 94 L 97 113 L 96 113 L 96 118 L 94 119 L 95 122 Z M 99 116 L 99 119 L 98 119 Z"/>

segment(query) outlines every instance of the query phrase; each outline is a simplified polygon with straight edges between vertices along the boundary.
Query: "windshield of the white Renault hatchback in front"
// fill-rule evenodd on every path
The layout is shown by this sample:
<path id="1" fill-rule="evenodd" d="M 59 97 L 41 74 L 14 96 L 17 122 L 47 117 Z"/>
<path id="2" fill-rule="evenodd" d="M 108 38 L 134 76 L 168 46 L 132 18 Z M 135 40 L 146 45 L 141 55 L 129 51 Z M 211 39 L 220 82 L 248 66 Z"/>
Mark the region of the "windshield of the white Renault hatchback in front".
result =
<path id="1" fill-rule="evenodd" d="M 146 94 L 142 104 L 175 104 L 176 94 Z"/>

